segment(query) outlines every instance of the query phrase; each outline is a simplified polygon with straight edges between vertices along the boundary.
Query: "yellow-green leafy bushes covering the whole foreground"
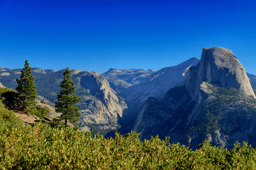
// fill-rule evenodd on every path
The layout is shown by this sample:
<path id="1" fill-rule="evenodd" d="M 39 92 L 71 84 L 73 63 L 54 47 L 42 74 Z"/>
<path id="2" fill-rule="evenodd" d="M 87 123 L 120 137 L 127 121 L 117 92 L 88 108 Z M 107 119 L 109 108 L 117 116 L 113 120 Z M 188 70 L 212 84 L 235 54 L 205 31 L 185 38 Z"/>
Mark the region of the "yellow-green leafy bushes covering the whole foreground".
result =
<path id="1" fill-rule="evenodd" d="M 92 137 L 73 128 L 37 123 L 22 127 L 0 119 L 0 169 L 256 169 L 256 150 L 243 143 L 232 150 L 139 140 L 137 132 Z"/>

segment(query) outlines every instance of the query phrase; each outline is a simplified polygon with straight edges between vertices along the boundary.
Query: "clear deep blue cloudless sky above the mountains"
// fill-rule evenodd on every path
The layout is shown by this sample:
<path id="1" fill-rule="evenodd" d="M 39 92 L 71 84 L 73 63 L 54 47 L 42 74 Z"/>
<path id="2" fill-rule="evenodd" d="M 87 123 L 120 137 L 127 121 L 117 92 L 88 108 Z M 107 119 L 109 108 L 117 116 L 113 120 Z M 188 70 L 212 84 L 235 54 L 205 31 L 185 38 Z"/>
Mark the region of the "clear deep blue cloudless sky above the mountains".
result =
<path id="1" fill-rule="evenodd" d="M 0 0 L 0 66 L 161 69 L 226 47 L 256 74 L 252 0 Z"/>

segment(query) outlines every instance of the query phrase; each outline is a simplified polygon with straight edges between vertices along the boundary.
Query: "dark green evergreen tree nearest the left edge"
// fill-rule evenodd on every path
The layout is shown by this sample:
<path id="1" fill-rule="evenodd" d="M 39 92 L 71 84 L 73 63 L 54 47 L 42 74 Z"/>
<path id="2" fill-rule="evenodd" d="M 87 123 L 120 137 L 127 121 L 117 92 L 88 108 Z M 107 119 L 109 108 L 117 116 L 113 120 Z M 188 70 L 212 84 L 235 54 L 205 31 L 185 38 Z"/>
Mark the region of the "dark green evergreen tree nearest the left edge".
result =
<path id="1" fill-rule="evenodd" d="M 16 79 L 18 86 L 18 109 L 24 111 L 27 108 L 36 106 L 36 86 L 35 77 L 31 72 L 28 60 L 25 61 L 24 68 L 21 70 L 21 78 Z"/>

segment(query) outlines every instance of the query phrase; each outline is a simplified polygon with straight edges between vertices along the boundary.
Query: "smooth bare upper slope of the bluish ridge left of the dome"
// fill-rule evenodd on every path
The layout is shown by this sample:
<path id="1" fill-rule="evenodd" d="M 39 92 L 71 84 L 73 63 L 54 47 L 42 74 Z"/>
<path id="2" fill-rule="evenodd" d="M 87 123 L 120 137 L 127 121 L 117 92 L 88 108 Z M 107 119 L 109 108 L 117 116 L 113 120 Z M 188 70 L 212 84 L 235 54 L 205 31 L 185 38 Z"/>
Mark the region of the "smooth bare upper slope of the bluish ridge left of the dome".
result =
<path id="1" fill-rule="evenodd" d="M 122 93 L 125 100 L 129 102 L 144 102 L 149 97 L 162 99 L 169 89 L 183 84 L 188 69 L 198 64 L 199 60 L 191 58 L 173 67 L 165 67 L 151 74 L 142 83 L 130 86 Z"/>

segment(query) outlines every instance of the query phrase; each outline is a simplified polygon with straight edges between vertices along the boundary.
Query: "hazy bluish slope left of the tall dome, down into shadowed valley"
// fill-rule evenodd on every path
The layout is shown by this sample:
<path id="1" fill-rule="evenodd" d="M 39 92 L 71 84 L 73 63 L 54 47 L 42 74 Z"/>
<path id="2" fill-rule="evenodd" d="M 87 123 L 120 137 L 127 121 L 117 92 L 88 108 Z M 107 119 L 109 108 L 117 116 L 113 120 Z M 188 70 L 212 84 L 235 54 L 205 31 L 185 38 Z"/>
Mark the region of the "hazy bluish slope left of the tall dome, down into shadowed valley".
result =
<path id="1" fill-rule="evenodd" d="M 165 67 L 146 77 L 140 84 L 135 84 L 124 89 L 119 95 L 125 99 L 128 108 L 119 120 L 119 123 L 122 125 L 119 131 L 126 133 L 132 130 L 134 120 L 142 111 L 147 98 L 154 97 L 161 99 L 172 87 L 184 84 L 188 69 L 196 66 L 198 62 L 198 59 L 191 58 L 176 66 Z"/>

